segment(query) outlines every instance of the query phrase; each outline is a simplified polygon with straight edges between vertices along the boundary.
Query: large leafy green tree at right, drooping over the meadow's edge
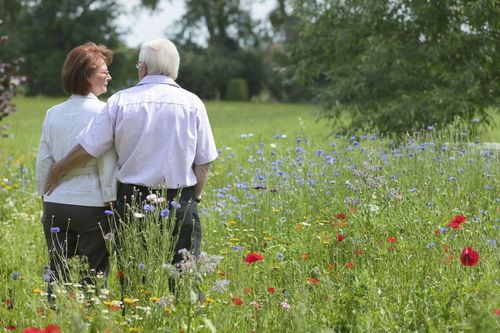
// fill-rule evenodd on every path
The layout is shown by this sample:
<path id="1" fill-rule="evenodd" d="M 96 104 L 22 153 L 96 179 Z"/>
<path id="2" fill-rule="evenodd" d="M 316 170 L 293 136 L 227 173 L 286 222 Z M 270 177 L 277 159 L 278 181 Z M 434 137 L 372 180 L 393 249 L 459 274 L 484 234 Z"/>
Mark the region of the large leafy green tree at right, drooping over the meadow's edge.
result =
<path id="1" fill-rule="evenodd" d="M 500 7 L 494 0 L 298 0 L 293 79 L 325 117 L 402 133 L 498 103 Z"/>

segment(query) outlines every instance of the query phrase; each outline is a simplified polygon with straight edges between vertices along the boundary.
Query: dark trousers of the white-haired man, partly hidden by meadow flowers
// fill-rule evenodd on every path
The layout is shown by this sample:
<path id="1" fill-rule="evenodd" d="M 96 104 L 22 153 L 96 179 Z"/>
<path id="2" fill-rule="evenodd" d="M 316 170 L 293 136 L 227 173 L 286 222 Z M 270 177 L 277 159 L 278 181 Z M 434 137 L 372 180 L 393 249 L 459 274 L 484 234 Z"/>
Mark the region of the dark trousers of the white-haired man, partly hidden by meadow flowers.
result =
<path id="1" fill-rule="evenodd" d="M 154 193 L 155 190 L 151 190 L 147 187 L 133 184 L 118 184 L 118 201 L 116 204 L 116 212 L 123 223 L 127 221 L 127 205 L 138 205 L 138 207 L 143 207 L 146 201 L 146 197 Z M 200 217 L 198 215 L 197 204 L 194 201 L 194 188 L 186 187 L 183 189 L 169 189 L 165 191 L 163 195 L 166 195 L 167 202 L 176 201 L 180 204 L 180 208 L 171 209 L 170 214 L 175 211 L 175 227 L 173 229 L 172 237 L 177 238 L 177 243 L 174 247 L 174 256 L 172 264 L 179 263 L 182 260 L 182 256 L 179 254 L 179 250 L 187 249 L 195 257 L 200 254 L 201 245 L 201 223 Z M 161 193 L 158 194 L 159 196 Z M 132 199 L 133 198 L 133 199 Z M 160 212 L 158 214 L 158 222 L 162 220 L 160 217 Z M 163 219 L 165 220 L 165 219 Z M 118 249 L 119 251 L 119 249 Z"/>

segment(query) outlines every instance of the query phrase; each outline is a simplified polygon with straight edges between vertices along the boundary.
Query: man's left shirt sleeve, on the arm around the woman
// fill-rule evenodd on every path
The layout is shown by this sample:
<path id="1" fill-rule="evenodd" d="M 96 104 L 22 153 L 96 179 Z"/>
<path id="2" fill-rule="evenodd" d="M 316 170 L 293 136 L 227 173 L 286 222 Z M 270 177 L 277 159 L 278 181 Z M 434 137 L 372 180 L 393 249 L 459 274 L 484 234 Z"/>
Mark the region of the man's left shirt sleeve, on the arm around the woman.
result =
<path id="1" fill-rule="evenodd" d="M 77 135 L 76 141 L 90 155 L 101 156 L 113 145 L 115 119 L 113 107 L 108 103 Z"/>

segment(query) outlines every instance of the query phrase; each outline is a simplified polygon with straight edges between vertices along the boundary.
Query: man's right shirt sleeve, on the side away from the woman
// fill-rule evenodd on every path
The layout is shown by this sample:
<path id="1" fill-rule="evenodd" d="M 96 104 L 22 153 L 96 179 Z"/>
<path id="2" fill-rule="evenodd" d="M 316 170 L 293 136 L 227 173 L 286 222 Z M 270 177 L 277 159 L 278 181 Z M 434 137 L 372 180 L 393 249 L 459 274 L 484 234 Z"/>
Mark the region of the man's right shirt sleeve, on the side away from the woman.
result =
<path id="1" fill-rule="evenodd" d="M 203 104 L 197 109 L 196 117 L 198 133 L 194 164 L 202 165 L 214 161 L 218 154 L 207 110 Z"/>

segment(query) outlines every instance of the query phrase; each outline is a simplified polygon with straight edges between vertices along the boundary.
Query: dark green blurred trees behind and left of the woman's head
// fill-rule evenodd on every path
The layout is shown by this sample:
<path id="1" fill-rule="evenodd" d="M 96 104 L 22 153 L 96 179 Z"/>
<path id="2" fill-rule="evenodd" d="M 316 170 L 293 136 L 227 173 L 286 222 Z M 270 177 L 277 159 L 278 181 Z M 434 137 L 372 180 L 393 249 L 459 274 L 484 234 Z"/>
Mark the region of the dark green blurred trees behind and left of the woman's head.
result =
<path id="1" fill-rule="evenodd" d="M 60 72 L 66 54 L 75 46 L 87 41 L 111 49 L 119 45 L 114 23 L 119 6 L 115 0 L 33 0 L 19 4 L 11 10 L 9 22 L 18 40 L 13 52 L 26 58 L 23 70 L 30 77 L 28 95 L 63 94 Z"/>

